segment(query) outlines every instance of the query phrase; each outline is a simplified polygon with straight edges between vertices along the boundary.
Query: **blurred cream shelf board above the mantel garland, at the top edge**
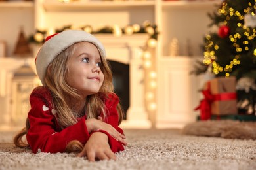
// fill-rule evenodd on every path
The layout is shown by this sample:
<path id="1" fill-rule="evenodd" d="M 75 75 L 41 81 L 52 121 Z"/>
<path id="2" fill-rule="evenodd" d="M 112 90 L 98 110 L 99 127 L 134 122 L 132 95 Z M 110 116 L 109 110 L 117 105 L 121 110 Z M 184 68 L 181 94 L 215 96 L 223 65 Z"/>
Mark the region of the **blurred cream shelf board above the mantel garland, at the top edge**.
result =
<path id="1" fill-rule="evenodd" d="M 135 7 L 152 7 L 155 1 L 72 1 L 61 3 L 58 1 L 45 1 L 43 7 L 47 11 L 77 11 L 95 9 L 125 9 Z"/>

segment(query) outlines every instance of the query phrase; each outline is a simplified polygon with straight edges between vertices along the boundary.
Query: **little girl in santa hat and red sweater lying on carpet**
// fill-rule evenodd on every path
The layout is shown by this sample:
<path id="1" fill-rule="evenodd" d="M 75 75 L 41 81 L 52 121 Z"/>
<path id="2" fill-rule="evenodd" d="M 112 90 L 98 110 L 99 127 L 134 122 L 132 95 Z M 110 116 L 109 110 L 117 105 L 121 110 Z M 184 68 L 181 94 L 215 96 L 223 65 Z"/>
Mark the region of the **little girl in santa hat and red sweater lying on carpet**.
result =
<path id="1" fill-rule="evenodd" d="M 34 153 L 79 152 L 89 161 L 115 160 L 114 153 L 127 143 L 101 42 L 85 31 L 56 33 L 47 37 L 35 65 L 43 86 L 31 93 L 26 127 L 14 144 Z"/>

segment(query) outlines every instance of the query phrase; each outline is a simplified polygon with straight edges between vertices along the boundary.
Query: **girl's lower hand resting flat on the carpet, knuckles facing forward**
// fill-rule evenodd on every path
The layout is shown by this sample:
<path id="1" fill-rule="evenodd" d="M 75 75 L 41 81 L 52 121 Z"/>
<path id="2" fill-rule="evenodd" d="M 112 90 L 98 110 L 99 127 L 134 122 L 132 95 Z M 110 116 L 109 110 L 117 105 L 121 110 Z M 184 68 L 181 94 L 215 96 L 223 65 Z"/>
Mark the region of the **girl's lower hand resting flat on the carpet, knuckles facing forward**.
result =
<path id="1" fill-rule="evenodd" d="M 85 144 L 82 152 L 77 156 L 87 156 L 89 161 L 95 161 L 95 158 L 99 160 L 116 160 L 116 155 L 112 152 L 108 144 L 108 136 L 101 132 L 93 133 Z"/>

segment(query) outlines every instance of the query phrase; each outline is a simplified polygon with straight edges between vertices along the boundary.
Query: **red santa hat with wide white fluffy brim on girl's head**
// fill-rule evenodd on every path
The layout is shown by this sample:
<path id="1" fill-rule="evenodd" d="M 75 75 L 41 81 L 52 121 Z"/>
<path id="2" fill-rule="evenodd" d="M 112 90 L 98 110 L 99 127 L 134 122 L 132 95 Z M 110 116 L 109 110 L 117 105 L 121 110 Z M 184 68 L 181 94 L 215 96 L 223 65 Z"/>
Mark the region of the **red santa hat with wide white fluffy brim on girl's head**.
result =
<path id="1" fill-rule="evenodd" d="M 45 39 L 45 43 L 41 46 L 37 57 L 35 59 L 35 65 L 37 75 L 39 76 L 42 84 L 45 84 L 45 73 L 48 65 L 53 61 L 58 54 L 66 50 L 69 46 L 77 42 L 91 42 L 98 48 L 100 55 L 106 58 L 106 51 L 104 46 L 96 37 L 81 30 L 68 30 L 61 33 L 50 35 Z"/>

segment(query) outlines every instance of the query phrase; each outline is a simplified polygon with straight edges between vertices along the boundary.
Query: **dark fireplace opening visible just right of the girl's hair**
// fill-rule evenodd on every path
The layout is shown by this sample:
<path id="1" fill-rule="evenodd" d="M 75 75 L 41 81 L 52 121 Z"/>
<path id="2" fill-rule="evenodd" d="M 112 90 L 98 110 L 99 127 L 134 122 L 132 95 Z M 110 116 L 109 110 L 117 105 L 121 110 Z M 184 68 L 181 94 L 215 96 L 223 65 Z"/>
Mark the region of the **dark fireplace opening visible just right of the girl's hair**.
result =
<path id="1" fill-rule="evenodd" d="M 129 65 L 112 60 L 108 60 L 108 62 L 112 69 L 114 92 L 119 96 L 126 120 L 127 110 L 130 106 Z"/>

